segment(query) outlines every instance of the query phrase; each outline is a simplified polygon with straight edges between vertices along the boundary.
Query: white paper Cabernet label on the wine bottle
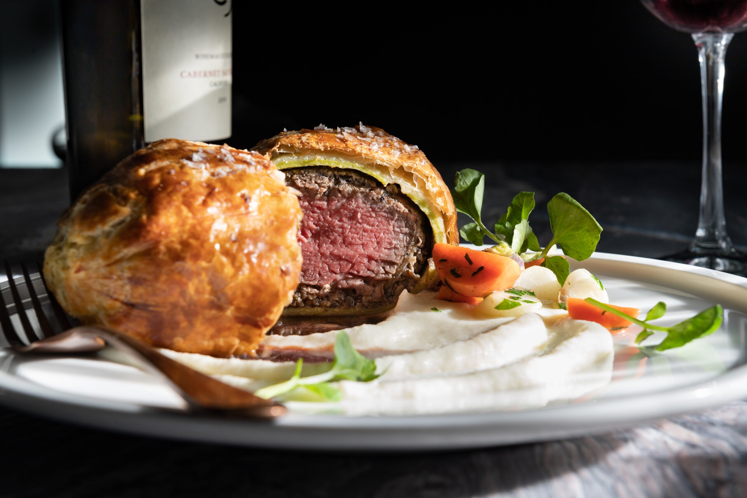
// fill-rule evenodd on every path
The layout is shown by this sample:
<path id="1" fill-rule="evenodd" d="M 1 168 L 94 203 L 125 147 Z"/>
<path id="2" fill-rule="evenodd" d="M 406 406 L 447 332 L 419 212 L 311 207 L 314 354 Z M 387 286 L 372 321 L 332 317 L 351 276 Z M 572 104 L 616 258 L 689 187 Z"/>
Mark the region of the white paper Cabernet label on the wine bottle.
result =
<path id="1" fill-rule="evenodd" d="M 140 0 L 145 141 L 231 136 L 231 0 Z"/>

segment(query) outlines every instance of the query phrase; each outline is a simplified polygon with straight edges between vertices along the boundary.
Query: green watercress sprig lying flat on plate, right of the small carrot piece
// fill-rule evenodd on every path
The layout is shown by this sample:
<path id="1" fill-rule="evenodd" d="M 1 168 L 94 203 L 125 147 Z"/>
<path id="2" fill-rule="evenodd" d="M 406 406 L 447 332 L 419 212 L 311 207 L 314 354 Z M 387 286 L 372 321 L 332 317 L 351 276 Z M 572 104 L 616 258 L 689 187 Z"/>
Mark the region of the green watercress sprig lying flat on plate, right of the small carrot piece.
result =
<path id="1" fill-rule="evenodd" d="M 636 337 L 636 344 L 640 344 L 643 339 L 651 336 L 654 333 L 653 331 L 666 332 L 666 338 L 656 347 L 657 351 L 679 348 L 694 339 L 710 335 L 721 326 L 724 313 L 724 309 L 721 305 L 716 304 L 716 306 L 707 308 L 707 310 L 703 310 L 692 318 L 686 319 L 684 322 L 680 322 L 677 325 L 672 325 L 672 327 L 660 327 L 658 325 L 651 325 L 648 323 L 648 320 L 654 320 L 664 316 L 664 313 L 666 313 L 666 304 L 663 302 L 659 302 L 656 306 L 651 308 L 651 311 L 646 314 L 645 320 L 639 320 L 627 313 L 616 310 L 607 304 L 601 303 L 596 299 L 586 298 L 585 301 L 589 304 L 593 304 L 595 307 L 613 313 L 613 315 L 620 316 L 628 322 L 640 325 L 643 328 L 643 331 Z"/>

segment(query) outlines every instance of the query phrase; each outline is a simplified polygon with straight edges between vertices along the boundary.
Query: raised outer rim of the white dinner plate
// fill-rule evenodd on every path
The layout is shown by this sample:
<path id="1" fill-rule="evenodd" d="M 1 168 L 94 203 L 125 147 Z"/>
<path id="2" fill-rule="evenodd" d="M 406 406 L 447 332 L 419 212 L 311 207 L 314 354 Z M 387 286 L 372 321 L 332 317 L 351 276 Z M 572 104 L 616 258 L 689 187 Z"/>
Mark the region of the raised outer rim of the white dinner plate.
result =
<path id="1" fill-rule="evenodd" d="M 674 271 L 675 274 L 689 274 L 695 277 L 689 284 L 692 286 L 710 282 L 710 288 L 704 289 L 709 295 L 723 294 L 729 288 L 734 289 L 733 286 L 743 293 L 747 292 L 745 277 L 678 262 L 613 253 L 594 253 L 592 258 L 586 261 L 591 261 L 592 265 L 596 262 L 601 266 L 633 264 L 654 268 L 645 280 L 627 279 L 640 283 L 661 285 L 657 282 Z M 583 267 L 584 264 L 585 262 L 571 260 L 572 268 Z M 707 301 L 701 295 L 695 296 Z M 738 308 L 747 313 L 747 302 L 742 301 L 741 305 L 737 306 L 737 310 L 740 310 Z M 526 411 L 406 416 L 290 414 L 270 422 L 260 422 L 187 414 L 128 402 L 62 393 L 9 372 L 0 371 L 0 404 L 22 411 L 134 434 L 288 449 L 459 449 L 527 443 L 622 428 L 745 397 L 747 363 L 716 375 L 710 380 L 684 387 L 657 393 L 600 399 L 579 405 Z M 630 409 L 625 406 L 630 399 L 636 399 L 635 414 L 631 414 Z M 548 414 L 557 414 L 558 411 L 562 411 L 562 416 L 555 417 L 551 427 L 545 427 L 540 423 L 546 424 Z M 195 431 L 195 428 L 202 430 Z M 506 432 L 506 428 L 515 428 L 516 431 L 510 434 Z M 295 437 L 280 437 L 285 432 Z M 403 437 L 403 432 L 407 437 Z"/>

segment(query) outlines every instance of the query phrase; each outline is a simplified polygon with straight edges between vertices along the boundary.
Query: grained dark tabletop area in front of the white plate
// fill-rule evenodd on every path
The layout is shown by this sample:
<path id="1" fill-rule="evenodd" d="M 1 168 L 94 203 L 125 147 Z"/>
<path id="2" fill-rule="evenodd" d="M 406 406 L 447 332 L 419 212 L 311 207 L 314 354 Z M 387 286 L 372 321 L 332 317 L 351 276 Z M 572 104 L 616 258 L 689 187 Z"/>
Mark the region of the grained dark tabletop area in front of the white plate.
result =
<path id="1" fill-rule="evenodd" d="M 747 496 L 745 402 L 592 437 L 426 454 L 183 443 L 7 409 L 0 434 L 3 497 Z"/>

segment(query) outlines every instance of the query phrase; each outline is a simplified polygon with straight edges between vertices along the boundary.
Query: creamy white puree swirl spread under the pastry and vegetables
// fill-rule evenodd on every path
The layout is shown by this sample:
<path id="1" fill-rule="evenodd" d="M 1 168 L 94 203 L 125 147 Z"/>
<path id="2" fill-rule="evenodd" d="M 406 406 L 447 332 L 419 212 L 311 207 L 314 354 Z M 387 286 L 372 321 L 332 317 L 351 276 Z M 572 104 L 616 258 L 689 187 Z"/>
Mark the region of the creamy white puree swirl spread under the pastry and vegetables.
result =
<path id="1" fill-rule="evenodd" d="M 267 336 L 263 345 L 320 355 L 332 351 L 337 333 Z M 569 319 L 549 303 L 515 319 L 483 318 L 465 304 L 439 301 L 433 292 L 405 291 L 384 322 L 347 333 L 356 349 L 376 358 L 380 377 L 336 383 L 344 395 L 338 403 L 291 396 L 285 401 L 291 411 L 398 415 L 539 407 L 603 387 L 612 373 L 610 332 L 594 322 Z M 163 352 L 249 390 L 283 381 L 295 368 L 295 362 Z M 305 363 L 303 376 L 330 366 Z"/>

